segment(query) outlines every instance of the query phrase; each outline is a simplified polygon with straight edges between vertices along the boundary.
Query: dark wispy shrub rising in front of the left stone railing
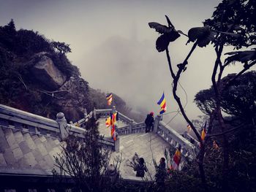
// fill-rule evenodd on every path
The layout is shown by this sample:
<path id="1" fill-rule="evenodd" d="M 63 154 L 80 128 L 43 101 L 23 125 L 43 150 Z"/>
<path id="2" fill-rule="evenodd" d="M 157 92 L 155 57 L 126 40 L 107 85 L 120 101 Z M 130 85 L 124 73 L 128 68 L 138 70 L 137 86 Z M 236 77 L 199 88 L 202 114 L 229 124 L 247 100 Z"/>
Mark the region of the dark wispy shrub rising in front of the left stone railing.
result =
<path id="1" fill-rule="evenodd" d="M 110 161 L 110 150 L 103 148 L 99 139 L 97 120 L 89 119 L 86 123 L 85 139 L 72 134 L 65 139 L 66 146 L 62 154 L 55 156 L 60 175 L 70 175 L 80 191 L 110 191 L 118 182 L 106 175 Z M 120 164 L 120 162 L 118 162 Z M 57 172 L 55 172 L 56 174 Z"/>

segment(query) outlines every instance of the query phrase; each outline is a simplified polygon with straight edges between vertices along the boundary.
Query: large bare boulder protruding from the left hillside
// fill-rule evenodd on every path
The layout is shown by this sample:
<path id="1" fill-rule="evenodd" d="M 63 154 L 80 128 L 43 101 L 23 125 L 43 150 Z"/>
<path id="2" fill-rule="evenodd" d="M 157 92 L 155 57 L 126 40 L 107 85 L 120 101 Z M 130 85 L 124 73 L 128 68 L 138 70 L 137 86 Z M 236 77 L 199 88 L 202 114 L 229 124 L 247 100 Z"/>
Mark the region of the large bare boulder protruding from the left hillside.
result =
<path id="1" fill-rule="evenodd" d="M 66 82 L 67 77 L 59 71 L 47 54 L 37 54 L 37 57 L 32 60 L 34 63 L 34 66 L 31 67 L 32 74 L 36 80 L 45 85 L 44 87 L 48 91 L 54 91 Z"/>

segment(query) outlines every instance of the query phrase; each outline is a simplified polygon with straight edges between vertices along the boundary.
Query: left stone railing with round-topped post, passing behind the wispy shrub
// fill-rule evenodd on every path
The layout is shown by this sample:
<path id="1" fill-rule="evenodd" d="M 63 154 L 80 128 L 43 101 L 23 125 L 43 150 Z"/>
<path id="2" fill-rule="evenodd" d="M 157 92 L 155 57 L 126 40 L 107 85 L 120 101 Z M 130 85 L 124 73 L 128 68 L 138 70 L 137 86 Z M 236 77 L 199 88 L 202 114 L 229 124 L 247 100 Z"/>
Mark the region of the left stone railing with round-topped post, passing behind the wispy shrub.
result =
<path id="1" fill-rule="evenodd" d="M 87 118 L 90 117 L 90 114 Z M 83 138 L 85 129 L 68 124 L 62 112 L 59 112 L 56 117 L 56 120 L 51 120 L 0 104 L 0 126 L 4 128 L 18 129 L 32 134 L 44 135 L 45 137 L 55 137 L 59 140 L 66 138 L 69 131 L 71 131 L 72 134 Z M 87 120 L 83 121 L 86 122 Z M 99 139 L 99 142 L 106 145 L 106 147 L 118 151 L 119 139 L 114 142 L 110 138 L 102 137 L 102 139 Z"/>

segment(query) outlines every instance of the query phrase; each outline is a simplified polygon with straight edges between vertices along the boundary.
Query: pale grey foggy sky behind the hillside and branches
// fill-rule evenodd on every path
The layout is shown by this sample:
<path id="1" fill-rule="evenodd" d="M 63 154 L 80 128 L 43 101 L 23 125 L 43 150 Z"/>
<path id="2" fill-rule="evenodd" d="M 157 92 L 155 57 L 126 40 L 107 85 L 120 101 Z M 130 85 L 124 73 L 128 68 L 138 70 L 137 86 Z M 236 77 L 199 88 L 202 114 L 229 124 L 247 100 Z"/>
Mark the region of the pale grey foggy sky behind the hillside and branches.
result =
<path id="1" fill-rule="evenodd" d="M 1 1 L 0 25 L 13 18 L 16 29 L 39 31 L 48 39 L 66 42 L 72 48 L 67 56 L 80 68 L 82 77 L 92 88 L 121 96 L 129 107 L 159 112 L 158 99 L 165 91 L 167 112 L 177 110 L 171 95 L 171 78 L 165 52 L 158 53 L 155 42 L 159 34 L 148 22 L 167 24 L 168 15 L 176 29 L 187 34 L 189 28 L 203 26 L 219 1 Z M 180 37 L 169 46 L 173 64 L 180 64 L 192 44 Z M 181 85 L 187 92 L 189 118 L 202 115 L 193 99 L 209 88 L 214 65 L 214 49 L 197 47 L 189 58 Z M 237 72 L 241 65 L 232 66 Z M 235 69 L 234 69 L 235 68 Z M 255 69 L 255 68 L 254 68 Z M 186 94 L 178 88 L 181 101 Z M 168 123 L 175 115 L 165 115 Z M 185 130 L 187 123 L 178 115 L 170 124 Z"/>

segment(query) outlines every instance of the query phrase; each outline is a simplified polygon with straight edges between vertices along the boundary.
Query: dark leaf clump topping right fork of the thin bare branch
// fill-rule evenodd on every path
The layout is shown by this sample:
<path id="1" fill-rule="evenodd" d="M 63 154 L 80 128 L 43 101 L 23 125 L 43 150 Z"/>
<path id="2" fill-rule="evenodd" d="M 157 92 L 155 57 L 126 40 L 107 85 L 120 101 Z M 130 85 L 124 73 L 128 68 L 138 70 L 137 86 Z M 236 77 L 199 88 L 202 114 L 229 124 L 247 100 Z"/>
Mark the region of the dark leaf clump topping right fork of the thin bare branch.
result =
<path id="1" fill-rule="evenodd" d="M 189 42 L 197 41 L 199 47 L 205 47 L 209 42 L 214 41 L 216 33 L 206 27 L 195 27 L 189 29 Z"/>

